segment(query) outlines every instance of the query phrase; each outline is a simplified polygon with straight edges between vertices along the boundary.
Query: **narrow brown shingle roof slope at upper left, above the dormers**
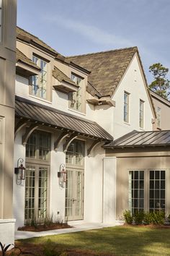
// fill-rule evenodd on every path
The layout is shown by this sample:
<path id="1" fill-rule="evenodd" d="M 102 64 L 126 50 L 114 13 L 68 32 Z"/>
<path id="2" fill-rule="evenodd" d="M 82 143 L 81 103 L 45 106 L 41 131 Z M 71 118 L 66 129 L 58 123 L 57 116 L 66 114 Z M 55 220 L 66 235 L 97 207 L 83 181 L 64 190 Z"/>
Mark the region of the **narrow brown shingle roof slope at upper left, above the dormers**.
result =
<path id="1" fill-rule="evenodd" d="M 37 38 L 37 36 L 32 35 L 31 33 L 28 33 L 27 31 L 23 30 L 20 27 L 17 27 L 17 38 L 19 38 L 21 40 L 25 40 L 25 41 L 36 43 L 37 45 L 42 46 L 42 48 L 47 49 L 51 53 L 53 53 L 55 55 L 60 55 L 61 56 L 61 54 L 58 54 L 58 52 L 55 51 L 55 49 L 53 49 L 50 46 L 48 46 L 48 44 L 44 43 L 42 40 L 40 40 L 40 38 Z"/>

